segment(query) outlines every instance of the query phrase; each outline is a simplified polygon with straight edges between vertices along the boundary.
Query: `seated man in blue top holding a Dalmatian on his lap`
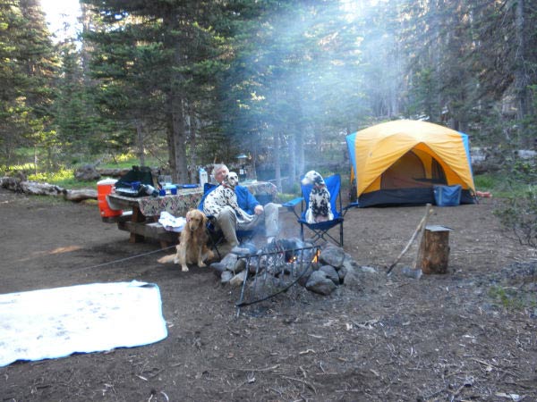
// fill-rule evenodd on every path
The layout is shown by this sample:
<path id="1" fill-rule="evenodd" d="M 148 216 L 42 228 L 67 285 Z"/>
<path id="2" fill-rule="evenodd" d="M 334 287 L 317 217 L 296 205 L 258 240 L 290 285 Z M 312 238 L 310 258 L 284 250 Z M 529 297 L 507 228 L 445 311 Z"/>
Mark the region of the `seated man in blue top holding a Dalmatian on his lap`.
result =
<path id="1" fill-rule="evenodd" d="M 228 172 L 229 169 L 227 169 L 225 164 L 216 164 L 213 168 L 212 174 L 217 182 L 221 183 Z M 214 188 L 212 190 L 214 190 Z M 209 190 L 209 192 L 212 190 Z M 263 205 L 260 205 L 259 201 L 253 197 L 250 190 L 244 186 L 236 186 L 234 191 L 237 196 L 238 205 L 247 214 L 253 215 L 253 219 L 251 219 L 249 222 L 239 222 L 231 206 L 226 206 L 224 209 L 222 209 L 222 211 L 220 211 L 219 214 L 217 214 L 217 216 L 215 216 L 217 226 L 224 233 L 229 250 L 239 245 L 239 240 L 237 239 L 237 235 L 235 233 L 236 230 L 252 230 L 259 225 L 260 222 L 265 222 L 267 241 L 272 241 L 272 239 L 274 239 L 278 233 L 279 205 L 268 203 L 265 205 L 265 207 L 263 207 Z M 201 210 L 203 210 L 203 203 L 209 192 L 204 194 L 201 198 L 199 205 Z"/>

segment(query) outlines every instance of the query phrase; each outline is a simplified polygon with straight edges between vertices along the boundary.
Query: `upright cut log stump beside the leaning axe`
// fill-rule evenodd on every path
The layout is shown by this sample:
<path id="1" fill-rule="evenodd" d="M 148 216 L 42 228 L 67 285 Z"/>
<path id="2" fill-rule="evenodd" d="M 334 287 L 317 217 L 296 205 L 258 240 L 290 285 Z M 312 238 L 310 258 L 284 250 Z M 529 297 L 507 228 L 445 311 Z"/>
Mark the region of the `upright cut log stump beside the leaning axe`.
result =
<path id="1" fill-rule="evenodd" d="M 449 228 L 439 225 L 425 227 L 420 245 L 423 273 L 446 273 L 449 259 Z"/>

